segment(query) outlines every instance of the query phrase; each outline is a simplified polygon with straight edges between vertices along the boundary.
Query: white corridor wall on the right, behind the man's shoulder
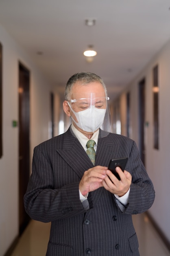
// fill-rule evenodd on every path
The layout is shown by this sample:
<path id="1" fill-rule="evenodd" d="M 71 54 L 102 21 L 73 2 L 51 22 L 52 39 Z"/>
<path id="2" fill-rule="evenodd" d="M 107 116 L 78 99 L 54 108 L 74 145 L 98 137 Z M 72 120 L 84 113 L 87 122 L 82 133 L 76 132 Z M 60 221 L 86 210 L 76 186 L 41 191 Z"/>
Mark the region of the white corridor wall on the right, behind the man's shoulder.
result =
<path id="1" fill-rule="evenodd" d="M 153 67 L 159 66 L 159 150 L 153 148 Z M 125 94 L 130 92 L 131 138 L 138 144 L 138 84 L 146 79 L 146 170 L 155 186 L 155 202 L 149 213 L 170 241 L 170 41 L 120 95 L 121 109 L 125 111 Z M 122 117 L 122 126 L 126 118 Z M 126 134 L 124 134 L 126 135 Z"/>

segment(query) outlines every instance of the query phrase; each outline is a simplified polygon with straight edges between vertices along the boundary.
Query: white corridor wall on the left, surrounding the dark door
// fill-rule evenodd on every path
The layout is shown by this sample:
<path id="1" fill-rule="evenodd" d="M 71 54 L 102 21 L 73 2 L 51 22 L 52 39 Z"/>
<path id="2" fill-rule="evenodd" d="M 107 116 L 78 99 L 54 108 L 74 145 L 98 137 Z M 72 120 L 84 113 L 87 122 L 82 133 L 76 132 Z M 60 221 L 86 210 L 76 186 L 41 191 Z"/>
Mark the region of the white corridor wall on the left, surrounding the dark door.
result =
<path id="1" fill-rule="evenodd" d="M 54 86 L 33 65 L 24 50 L 0 26 L 2 56 L 2 140 L 0 158 L 0 256 L 17 237 L 18 223 L 18 61 L 31 71 L 30 82 L 30 147 L 31 159 L 35 145 L 48 139 L 50 122 L 50 92 Z"/>

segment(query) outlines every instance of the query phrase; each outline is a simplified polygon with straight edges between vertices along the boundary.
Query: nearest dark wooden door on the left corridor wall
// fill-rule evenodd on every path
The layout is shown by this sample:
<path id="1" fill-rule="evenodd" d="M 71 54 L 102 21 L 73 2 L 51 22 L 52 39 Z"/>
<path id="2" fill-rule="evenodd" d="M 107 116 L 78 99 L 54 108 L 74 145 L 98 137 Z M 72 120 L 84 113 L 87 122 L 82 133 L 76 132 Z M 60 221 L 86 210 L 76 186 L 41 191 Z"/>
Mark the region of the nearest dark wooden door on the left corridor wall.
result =
<path id="1" fill-rule="evenodd" d="M 20 235 L 29 222 L 23 197 L 30 175 L 30 74 L 19 63 L 19 230 Z"/>

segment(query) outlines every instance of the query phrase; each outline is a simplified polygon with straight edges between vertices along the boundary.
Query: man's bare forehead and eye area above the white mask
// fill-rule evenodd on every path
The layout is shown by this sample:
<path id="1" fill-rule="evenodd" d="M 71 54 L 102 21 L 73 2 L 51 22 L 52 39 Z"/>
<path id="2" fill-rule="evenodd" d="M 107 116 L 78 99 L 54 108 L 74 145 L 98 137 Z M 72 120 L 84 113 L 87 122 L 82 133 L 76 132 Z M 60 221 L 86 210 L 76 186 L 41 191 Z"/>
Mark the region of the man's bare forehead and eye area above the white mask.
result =
<path id="1" fill-rule="evenodd" d="M 71 100 L 72 102 L 69 103 L 75 112 L 86 110 L 91 105 L 106 109 L 105 89 L 99 82 L 85 85 L 81 85 L 80 82 L 75 83 L 72 87 Z"/>

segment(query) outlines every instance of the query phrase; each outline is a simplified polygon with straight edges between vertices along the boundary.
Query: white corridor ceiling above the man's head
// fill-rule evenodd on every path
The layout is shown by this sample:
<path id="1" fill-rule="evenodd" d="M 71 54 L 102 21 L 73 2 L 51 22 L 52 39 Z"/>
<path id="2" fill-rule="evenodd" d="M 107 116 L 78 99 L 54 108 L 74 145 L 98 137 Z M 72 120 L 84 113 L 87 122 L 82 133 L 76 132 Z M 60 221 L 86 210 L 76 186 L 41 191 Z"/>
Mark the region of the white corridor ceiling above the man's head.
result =
<path id="1" fill-rule="evenodd" d="M 0 0 L 0 24 L 59 91 L 89 71 L 113 99 L 170 39 L 169 7 L 169 0 Z M 88 18 L 96 25 L 87 27 Z M 83 56 L 88 45 L 98 53 L 92 63 Z"/>

